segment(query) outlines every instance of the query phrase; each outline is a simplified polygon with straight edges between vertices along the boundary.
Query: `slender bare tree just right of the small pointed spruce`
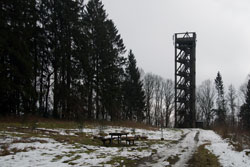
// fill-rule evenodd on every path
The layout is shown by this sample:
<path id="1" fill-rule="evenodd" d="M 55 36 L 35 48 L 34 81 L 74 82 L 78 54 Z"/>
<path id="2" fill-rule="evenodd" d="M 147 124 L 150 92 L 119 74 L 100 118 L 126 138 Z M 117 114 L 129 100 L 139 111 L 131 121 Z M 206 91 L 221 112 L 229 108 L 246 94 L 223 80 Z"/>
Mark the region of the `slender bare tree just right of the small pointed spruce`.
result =
<path id="1" fill-rule="evenodd" d="M 227 100 L 228 100 L 229 109 L 230 109 L 229 123 L 232 126 L 235 125 L 236 99 L 237 99 L 236 90 L 231 84 L 228 87 Z"/>

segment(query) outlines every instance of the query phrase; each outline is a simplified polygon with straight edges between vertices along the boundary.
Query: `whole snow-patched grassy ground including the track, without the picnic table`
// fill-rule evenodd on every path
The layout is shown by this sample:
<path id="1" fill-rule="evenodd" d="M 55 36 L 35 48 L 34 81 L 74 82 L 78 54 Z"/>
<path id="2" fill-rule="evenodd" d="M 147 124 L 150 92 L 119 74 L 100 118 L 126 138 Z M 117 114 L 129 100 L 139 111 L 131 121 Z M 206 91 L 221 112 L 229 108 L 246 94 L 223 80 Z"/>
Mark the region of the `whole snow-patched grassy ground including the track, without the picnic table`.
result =
<path id="1" fill-rule="evenodd" d="M 5 125 L 6 126 L 6 125 Z M 134 145 L 106 146 L 111 132 L 147 136 Z M 85 126 L 83 129 L 10 125 L 0 131 L 0 166 L 250 166 L 250 150 L 237 152 L 211 130 Z"/>

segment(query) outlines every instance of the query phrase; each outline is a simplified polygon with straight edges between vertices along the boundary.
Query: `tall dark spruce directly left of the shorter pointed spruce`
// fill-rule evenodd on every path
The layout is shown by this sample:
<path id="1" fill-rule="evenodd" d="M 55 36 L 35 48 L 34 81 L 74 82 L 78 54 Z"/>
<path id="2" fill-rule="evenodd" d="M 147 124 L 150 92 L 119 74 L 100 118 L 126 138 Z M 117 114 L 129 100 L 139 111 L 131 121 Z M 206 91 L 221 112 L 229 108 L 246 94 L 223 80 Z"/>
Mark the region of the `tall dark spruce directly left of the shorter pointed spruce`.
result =
<path id="1" fill-rule="evenodd" d="M 118 119 L 121 106 L 121 76 L 125 46 L 112 20 L 107 18 L 100 0 L 90 0 L 86 6 L 85 34 L 88 40 L 86 81 L 88 117 L 107 114 Z M 95 105 L 94 105 L 95 104 Z"/>

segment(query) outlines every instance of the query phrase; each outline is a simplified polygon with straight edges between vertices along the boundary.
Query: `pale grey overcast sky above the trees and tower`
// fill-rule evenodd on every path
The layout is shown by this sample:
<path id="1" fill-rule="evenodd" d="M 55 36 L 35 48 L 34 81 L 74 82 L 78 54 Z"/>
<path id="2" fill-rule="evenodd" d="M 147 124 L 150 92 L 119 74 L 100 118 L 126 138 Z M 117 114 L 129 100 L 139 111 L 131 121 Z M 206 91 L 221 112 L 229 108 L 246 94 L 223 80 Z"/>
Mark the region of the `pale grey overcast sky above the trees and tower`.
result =
<path id="1" fill-rule="evenodd" d="M 196 79 L 221 72 L 238 88 L 250 73 L 250 0 L 103 0 L 145 72 L 174 79 L 173 34 L 196 32 Z"/>

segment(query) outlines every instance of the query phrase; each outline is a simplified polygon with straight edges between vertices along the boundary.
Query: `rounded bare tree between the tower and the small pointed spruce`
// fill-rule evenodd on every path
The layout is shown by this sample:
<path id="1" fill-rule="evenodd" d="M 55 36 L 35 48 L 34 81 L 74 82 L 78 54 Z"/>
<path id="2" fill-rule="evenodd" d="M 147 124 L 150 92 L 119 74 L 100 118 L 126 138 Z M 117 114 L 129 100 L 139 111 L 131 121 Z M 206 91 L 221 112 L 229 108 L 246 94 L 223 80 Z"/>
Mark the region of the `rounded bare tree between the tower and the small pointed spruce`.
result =
<path id="1" fill-rule="evenodd" d="M 205 122 L 207 127 L 210 126 L 216 114 L 215 110 L 213 110 L 215 98 L 216 93 L 212 81 L 203 81 L 197 90 L 197 105 L 200 119 Z"/>

